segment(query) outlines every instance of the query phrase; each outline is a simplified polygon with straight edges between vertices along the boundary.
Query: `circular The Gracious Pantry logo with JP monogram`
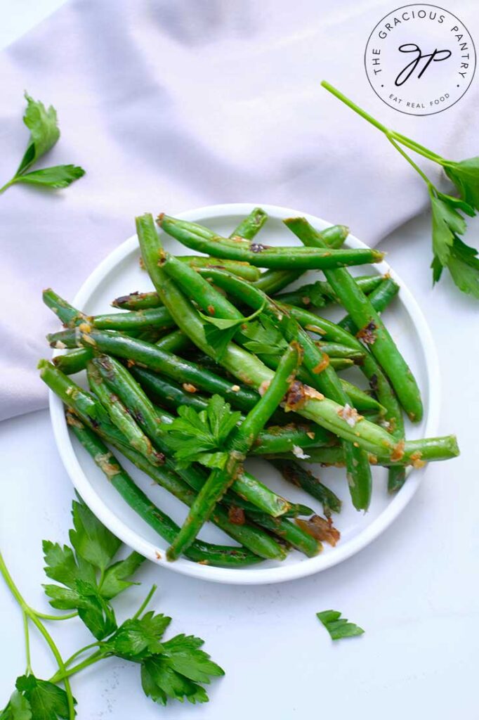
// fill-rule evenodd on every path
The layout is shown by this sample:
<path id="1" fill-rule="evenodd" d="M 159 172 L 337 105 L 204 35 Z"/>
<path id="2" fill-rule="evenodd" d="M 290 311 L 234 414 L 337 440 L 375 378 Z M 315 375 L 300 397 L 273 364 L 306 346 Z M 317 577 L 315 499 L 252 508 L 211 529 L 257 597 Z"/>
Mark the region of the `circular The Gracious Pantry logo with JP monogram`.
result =
<path id="1" fill-rule="evenodd" d="M 378 22 L 365 50 L 375 94 L 399 112 L 432 115 L 473 81 L 475 47 L 465 24 L 437 5 L 404 5 Z"/>

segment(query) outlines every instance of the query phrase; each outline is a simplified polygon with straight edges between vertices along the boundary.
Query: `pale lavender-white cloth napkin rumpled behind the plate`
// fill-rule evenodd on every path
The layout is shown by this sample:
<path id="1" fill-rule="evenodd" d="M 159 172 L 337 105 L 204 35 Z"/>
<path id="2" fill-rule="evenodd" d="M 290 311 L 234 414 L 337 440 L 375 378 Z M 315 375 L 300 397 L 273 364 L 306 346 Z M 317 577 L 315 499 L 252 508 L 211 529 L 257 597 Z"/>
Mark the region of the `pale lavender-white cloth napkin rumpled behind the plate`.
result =
<path id="1" fill-rule="evenodd" d="M 473 0 L 442 4 L 479 37 Z M 350 225 L 374 245 L 426 207 L 414 171 L 321 79 L 445 156 L 478 153 L 477 82 L 427 117 L 396 112 L 370 88 L 365 44 L 393 8 L 70 0 L 0 55 L 0 185 L 27 143 L 24 89 L 58 110 L 62 135 L 45 166 L 87 173 L 60 192 L 13 186 L 0 196 L 0 419 L 46 403 L 36 364 L 57 323 L 42 288 L 71 299 L 132 234 L 134 215 L 270 202 Z"/>

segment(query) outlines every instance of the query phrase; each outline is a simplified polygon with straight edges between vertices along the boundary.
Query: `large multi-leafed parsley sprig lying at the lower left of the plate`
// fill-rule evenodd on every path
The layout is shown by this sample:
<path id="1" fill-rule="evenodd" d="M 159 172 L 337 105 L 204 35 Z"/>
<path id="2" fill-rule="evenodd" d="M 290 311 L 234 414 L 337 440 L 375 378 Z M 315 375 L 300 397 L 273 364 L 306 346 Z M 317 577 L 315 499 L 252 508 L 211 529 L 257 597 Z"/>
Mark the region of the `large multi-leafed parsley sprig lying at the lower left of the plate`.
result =
<path id="1" fill-rule="evenodd" d="M 162 613 L 146 611 L 156 587 L 131 618 L 119 626 L 111 600 L 131 585 L 133 573 L 145 558 L 132 552 L 125 559 L 114 558 L 121 542 L 93 516 L 81 501 L 73 502 L 71 546 L 44 541 L 45 572 L 58 585 L 45 585 L 45 592 L 54 608 L 73 610 L 64 615 L 48 615 L 31 608 L 9 574 L 0 554 L 0 574 L 22 608 L 25 629 L 27 668 L 15 683 L 15 690 L 0 712 L 0 720 L 73 720 L 76 700 L 69 678 L 86 667 L 109 657 L 121 657 L 140 666 L 145 694 L 156 703 L 168 700 L 204 703 L 208 696 L 204 685 L 211 678 L 224 675 L 219 665 L 200 649 L 203 640 L 177 635 L 163 640 L 171 618 Z M 43 620 L 81 618 L 95 641 L 63 660 Z M 32 671 L 29 649 L 29 624 L 34 624 L 50 647 L 58 665 L 49 680 L 38 678 Z M 89 652 L 89 654 L 87 654 Z M 79 656 L 83 660 L 74 664 Z M 63 687 L 60 685 L 63 684 Z"/>

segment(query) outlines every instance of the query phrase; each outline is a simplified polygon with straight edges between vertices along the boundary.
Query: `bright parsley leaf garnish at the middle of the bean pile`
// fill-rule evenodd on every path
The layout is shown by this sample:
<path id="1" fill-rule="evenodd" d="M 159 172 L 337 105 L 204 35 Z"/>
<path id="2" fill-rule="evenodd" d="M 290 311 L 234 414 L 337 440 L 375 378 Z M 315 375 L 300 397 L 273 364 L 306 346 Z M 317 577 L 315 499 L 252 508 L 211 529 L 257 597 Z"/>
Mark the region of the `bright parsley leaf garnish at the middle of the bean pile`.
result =
<path id="1" fill-rule="evenodd" d="M 210 397 L 206 410 L 199 413 L 181 405 L 178 418 L 165 426 L 178 467 L 188 467 L 192 462 L 206 467 L 224 467 L 227 460 L 224 444 L 240 418 L 241 413 L 232 412 L 221 395 Z"/>

